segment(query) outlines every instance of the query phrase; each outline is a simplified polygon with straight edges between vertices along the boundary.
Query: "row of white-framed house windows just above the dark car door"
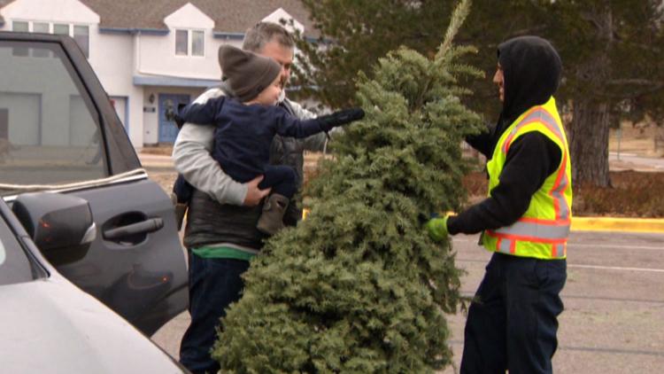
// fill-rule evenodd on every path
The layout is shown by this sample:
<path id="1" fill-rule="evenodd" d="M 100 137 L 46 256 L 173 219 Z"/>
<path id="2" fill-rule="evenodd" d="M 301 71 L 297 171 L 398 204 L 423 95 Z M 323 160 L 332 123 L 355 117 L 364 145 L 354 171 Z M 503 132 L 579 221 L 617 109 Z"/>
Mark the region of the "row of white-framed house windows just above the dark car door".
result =
<path id="1" fill-rule="evenodd" d="M 52 29 L 51 29 L 52 25 Z M 90 32 L 88 26 L 83 25 L 69 25 L 66 23 L 49 23 L 49 22 L 31 22 L 31 21 L 12 21 L 12 31 L 19 32 L 33 32 L 33 33 L 52 33 L 56 35 L 70 35 L 73 40 L 79 44 L 81 51 L 86 58 L 90 57 Z M 28 56 L 27 50 L 15 48 L 14 56 Z M 21 54 L 22 53 L 22 54 Z M 45 54 L 45 55 L 42 55 Z M 33 57 L 49 57 L 49 51 L 34 50 Z"/>

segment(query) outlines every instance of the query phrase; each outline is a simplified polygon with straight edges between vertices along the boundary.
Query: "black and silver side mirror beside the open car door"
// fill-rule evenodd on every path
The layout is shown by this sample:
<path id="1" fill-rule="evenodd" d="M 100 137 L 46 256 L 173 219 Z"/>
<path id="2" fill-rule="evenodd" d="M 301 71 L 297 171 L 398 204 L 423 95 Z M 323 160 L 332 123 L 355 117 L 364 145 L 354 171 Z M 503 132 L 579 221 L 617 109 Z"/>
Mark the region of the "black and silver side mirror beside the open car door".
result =
<path id="1" fill-rule="evenodd" d="M 21 193 L 12 211 L 44 254 L 80 247 L 97 238 L 87 200 L 52 192 Z"/>

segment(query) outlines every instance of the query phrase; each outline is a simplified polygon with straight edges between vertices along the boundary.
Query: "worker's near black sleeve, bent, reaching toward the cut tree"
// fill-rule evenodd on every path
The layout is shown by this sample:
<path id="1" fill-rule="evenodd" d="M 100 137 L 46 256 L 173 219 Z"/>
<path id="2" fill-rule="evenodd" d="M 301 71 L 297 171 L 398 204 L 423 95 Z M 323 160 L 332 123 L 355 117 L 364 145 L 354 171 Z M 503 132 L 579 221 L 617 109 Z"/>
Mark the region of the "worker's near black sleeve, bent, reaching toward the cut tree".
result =
<path id="1" fill-rule="evenodd" d="M 447 221 L 450 234 L 475 234 L 516 222 L 526 213 L 533 194 L 560 165 L 557 144 L 541 133 L 519 136 L 510 146 L 499 182 L 490 197 Z"/>

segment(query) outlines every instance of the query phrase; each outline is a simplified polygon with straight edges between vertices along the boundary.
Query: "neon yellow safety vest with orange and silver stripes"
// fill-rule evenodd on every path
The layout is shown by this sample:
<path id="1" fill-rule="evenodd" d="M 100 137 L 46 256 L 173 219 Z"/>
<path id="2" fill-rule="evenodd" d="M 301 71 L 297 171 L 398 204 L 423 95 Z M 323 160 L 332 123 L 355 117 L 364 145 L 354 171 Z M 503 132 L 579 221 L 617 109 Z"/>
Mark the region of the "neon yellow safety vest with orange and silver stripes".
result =
<path id="1" fill-rule="evenodd" d="M 505 130 L 487 163 L 489 191 L 498 183 L 507 152 L 519 136 L 537 131 L 560 147 L 560 165 L 535 192 L 526 213 L 510 226 L 485 230 L 483 245 L 490 251 L 521 257 L 554 260 L 567 257 L 567 237 L 572 218 L 572 168 L 567 136 L 553 97 L 530 108 Z M 490 192 L 489 192 L 490 193 Z"/>

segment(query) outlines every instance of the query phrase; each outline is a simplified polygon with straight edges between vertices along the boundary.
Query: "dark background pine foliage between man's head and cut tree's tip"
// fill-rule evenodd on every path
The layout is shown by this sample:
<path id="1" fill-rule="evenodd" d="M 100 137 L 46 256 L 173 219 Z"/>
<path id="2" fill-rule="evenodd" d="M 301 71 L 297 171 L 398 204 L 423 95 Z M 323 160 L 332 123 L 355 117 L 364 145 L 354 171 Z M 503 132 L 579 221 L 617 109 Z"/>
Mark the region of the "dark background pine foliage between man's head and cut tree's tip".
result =
<path id="1" fill-rule="evenodd" d="M 454 4 L 430 0 L 300 0 L 313 22 L 297 38 L 289 97 L 321 106 L 356 105 L 356 72 L 371 73 L 378 58 L 406 46 L 433 57 Z M 293 25 L 295 26 L 295 25 Z M 319 37 L 312 40 L 312 35 Z M 334 43 L 330 43 L 334 41 Z M 320 48 L 324 46 L 324 48 Z M 372 77 L 373 78 L 373 77 Z"/>

